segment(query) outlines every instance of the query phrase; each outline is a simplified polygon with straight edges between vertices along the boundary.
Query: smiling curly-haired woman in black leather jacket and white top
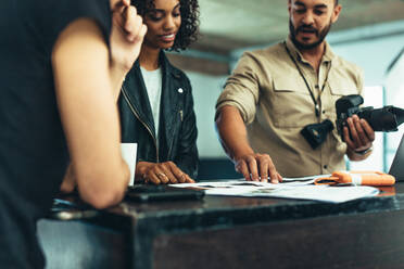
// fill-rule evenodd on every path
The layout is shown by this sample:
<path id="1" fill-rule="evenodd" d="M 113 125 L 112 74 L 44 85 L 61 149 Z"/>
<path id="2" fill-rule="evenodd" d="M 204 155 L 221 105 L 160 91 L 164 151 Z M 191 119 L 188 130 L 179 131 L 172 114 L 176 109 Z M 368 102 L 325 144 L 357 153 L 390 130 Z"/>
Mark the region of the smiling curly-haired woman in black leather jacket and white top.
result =
<path id="1" fill-rule="evenodd" d="M 138 143 L 136 182 L 193 182 L 198 170 L 192 89 L 164 50 L 197 40 L 197 0 L 132 0 L 148 33 L 119 97 L 122 142 Z"/>

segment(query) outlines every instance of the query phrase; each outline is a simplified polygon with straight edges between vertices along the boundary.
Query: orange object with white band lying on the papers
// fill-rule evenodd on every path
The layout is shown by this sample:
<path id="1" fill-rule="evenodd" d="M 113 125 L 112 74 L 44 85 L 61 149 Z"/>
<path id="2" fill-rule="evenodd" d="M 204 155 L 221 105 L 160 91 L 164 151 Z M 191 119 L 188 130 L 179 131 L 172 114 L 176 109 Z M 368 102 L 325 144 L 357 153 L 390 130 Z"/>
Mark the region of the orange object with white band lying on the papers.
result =
<path id="1" fill-rule="evenodd" d="M 392 185 L 395 178 L 380 171 L 334 171 L 331 177 L 317 178 L 315 184 Z"/>

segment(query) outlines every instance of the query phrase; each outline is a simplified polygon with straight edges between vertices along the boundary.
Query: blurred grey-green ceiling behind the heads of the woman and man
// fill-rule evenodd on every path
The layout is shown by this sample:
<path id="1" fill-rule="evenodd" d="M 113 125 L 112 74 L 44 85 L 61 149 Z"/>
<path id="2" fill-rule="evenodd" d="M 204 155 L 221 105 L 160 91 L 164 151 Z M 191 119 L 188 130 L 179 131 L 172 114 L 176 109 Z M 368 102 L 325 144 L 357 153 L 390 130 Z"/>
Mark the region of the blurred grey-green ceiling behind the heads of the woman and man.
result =
<path id="1" fill-rule="evenodd" d="M 229 51 L 283 39 L 287 0 L 200 0 L 200 51 Z M 342 12 L 332 30 L 404 20 L 404 0 L 340 0 Z"/>

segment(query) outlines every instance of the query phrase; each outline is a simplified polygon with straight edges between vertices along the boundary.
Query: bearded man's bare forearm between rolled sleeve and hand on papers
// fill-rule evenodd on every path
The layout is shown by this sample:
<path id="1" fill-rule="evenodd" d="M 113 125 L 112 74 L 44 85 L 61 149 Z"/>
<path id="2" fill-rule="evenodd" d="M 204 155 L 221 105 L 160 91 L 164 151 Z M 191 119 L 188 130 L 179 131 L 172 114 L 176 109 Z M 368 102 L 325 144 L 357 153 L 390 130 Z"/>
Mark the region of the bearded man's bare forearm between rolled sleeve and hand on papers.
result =
<path id="1" fill-rule="evenodd" d="M 230 105 L 222 107 L 216 119 L 216 128 L 220 143 L 231 159 L 254 153 L 248 141 L 244 121 L 237 107 Z"/>

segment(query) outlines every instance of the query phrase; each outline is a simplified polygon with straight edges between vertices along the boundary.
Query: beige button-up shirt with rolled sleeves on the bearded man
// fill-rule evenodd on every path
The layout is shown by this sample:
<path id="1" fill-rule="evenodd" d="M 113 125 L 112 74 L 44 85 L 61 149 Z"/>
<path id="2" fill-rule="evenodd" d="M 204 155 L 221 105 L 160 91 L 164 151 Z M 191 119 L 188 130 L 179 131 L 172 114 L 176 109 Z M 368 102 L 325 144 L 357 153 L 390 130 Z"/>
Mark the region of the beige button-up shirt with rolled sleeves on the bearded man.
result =
<path id="1" fill-rule="evenodd" d="M 318 102 L 318 117 L 285 46 Z M 216 113 L 225 105 L 236 106 L 245 121 L 252 149 L 269 154 L 283 177 L 330 174 L 345 169 L 346 144 L 337 131 L 336 101 L 342 95 L 361 94 L 362 89 L 362 71 L 333 54 L 328 43 L 317 74 L 288 39 L 242 55 L 217 100 Z M 313 150 L 300 131 L 325 119 L 330 119 L 334 129 Z"/>

